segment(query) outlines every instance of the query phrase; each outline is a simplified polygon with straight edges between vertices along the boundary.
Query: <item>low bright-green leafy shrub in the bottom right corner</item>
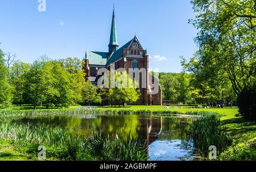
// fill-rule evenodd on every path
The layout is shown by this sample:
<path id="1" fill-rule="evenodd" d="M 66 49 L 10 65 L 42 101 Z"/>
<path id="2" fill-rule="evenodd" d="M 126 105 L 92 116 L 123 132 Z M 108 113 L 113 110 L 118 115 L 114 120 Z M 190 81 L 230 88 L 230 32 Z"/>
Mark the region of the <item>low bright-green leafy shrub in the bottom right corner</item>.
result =
<path id="1" fill-rule="evenodd" d="M 250 146 L 245 144 L 233 144 L 220 154 L 221 161 L 255 161 L 256 154 Z"/>

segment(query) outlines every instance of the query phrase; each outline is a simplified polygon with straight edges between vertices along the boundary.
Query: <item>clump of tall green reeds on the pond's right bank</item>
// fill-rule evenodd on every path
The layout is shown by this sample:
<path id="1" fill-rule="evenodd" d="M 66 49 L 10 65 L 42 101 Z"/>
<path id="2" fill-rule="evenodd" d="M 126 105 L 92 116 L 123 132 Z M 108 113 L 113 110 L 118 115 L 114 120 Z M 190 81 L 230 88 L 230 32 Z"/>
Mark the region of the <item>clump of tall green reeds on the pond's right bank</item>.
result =
<path id="1" fill-rule="evenodd" d="M 187 137 L 193 140 L 195 148 L 199 149 L 199 153 L 204 157 L 211 145 L 216 146 L 218 152 L 222 152 L 232 144 L 232 139 L 226 133 L 226 128 L 221 125 L 220 115 L 210 112 L 193 121 Z"/>

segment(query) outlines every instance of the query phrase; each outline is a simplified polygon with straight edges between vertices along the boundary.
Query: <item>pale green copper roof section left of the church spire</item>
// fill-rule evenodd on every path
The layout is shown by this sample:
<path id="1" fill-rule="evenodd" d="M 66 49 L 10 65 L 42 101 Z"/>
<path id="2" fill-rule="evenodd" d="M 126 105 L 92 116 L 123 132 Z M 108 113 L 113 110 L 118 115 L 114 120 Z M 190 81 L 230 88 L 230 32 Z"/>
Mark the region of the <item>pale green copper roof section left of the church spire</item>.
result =
<path id="1" fill-rule="evenodd" d="M 90 65 L 106 65 L 108 53 L 105 52 L 86 52 L 85 59 L 89 60 Z"/>

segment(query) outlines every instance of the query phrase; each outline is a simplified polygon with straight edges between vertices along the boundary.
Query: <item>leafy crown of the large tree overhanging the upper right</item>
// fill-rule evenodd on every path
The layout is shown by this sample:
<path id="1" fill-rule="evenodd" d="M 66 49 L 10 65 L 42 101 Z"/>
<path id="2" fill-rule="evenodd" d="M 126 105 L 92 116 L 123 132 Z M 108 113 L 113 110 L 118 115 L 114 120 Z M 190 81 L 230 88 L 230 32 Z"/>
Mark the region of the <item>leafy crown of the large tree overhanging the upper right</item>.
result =
<path id="1" fill-rule="evenodd" d="M 255 4 L 254 0 L 216 0 L 214 7 L 213 1 L 192 1 L 197 15 L 190 23 L 199 31 L 199 50 L 183 65 L 203 88 L 213 89 L 207 89 L 215 92 L 212 95 L 225 97 L 224 92 L 230 92 L 227 87 L 238 95 L 256 81 Z"/>

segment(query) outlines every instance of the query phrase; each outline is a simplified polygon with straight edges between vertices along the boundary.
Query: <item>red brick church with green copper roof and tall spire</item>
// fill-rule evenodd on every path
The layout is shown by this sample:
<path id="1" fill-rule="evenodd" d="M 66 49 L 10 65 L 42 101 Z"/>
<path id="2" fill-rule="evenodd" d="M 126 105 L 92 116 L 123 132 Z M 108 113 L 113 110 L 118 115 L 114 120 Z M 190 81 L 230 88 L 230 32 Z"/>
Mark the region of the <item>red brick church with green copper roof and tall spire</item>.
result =
<path id="1" fill-rule="evenodd" d="M 97 85 L 98 78 L 101 77 L 101 75 L 97 75 L 98 70 L 101 68 L 110 69 L 110 65 L 114 65 L 115 69 L 124 68 L 127 72 L 129 68 L 146 69 L 146 88 L 141 87 L 142 82 L 145 82 L 145 79 L 142 81 L 142 78 L 140 77 L 139 89 L 141 90 L 141 97 L 137 102 L 131 104 L 162 105 L 162 89 L 159 84 L 157 84 L 157 88 L 154 88 L 154 83 L 158 80 L 148 71 L 149 56 L 147 51 L 142 48 L 137 37 L 135 36 L 128 43 L 119 48 L 114 10 L 109 41 L 109 52 L 86 51 L 84 61 L 86 79 L 92 82 L 95 86 Z M 150 94 L 151 92 L 154 92 L 154 89 L 158 89 L 158 93 Z"/>

